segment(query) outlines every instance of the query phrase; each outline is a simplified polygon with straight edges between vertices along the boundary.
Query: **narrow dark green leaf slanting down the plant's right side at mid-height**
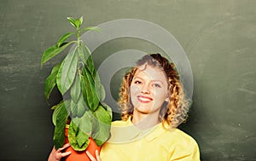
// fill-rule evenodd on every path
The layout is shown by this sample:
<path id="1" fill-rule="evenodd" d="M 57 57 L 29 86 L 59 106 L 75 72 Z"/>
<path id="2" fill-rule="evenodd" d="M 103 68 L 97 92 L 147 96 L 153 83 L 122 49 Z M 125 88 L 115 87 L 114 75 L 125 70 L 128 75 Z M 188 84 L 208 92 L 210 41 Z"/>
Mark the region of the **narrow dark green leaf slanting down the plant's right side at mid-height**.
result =
<path id="1" fill-rule="evenodd" d="M 84 67 L 83 69 L 83 78 L 84 78 L 84 83 L 85 83 L 85 93 L 86 93 L 86 101 L 87 104 L 90 107 L 90 110 L 95 111 L 96 107 L 99 104 L 99 98 L 96 95 L 96 87 L 94 80 L 87 68 Z"/>

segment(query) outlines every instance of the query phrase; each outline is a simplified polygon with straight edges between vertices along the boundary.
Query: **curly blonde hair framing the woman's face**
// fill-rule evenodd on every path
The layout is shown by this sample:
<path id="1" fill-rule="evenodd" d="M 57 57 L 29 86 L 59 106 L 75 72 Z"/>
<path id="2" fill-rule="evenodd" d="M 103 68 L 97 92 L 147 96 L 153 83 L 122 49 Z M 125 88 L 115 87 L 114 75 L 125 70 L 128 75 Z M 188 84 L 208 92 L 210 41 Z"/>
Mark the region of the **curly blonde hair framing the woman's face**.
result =
<path id="1" fill-rule="evenodd" d="M 127 120 L 129 117 L 132 118 L 134 107 L 132 106 L 130 97 L 131 81 L 137 72 L 137 67 L 143 65 L 159 67 L 166 73 L 166 81 L 169 86 L 169 101 L 165 101 L 161 106 L 159 120 L 162 124 L 167 123 L 170 128 L 176 128 L 186 120 L 191 101 L 185 98 L 183 85 L 180 82 L 174 64 L 170 63 L 160 54 L 143 56 L 141 60 L 137 61 L 137 66 L 132 67 L 125 74 L 119 90 L 118 101 L 122 120 Z"/>

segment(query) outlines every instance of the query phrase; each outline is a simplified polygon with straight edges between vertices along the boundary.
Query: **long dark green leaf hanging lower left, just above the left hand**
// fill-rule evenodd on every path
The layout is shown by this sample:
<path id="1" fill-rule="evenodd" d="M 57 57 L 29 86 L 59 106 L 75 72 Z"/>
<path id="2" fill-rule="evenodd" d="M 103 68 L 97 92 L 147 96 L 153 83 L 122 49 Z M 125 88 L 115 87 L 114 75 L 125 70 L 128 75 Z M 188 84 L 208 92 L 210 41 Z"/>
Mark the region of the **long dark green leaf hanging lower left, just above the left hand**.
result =
<path id="1" fill-rule="evenodd" d="M 56 108 L 55 113 L 55 133 L 54 133 L 54 145 L 58 149 L 64 145 L 65 142 L 65 126 L 68 117 L 68 112 L 65 103 L 61 104 Z"/>

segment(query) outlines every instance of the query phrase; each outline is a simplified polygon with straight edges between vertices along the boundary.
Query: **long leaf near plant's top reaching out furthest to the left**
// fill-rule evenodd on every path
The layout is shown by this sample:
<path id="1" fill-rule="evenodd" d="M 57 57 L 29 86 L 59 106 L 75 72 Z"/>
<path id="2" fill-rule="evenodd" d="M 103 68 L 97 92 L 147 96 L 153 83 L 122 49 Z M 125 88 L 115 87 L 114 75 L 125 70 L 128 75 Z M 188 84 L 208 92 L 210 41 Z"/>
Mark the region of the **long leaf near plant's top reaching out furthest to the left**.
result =
<path id="1" fill-rule="evenodd" d="M 70 45 L 71 43 L 74 43 L 74 42 L 66 43 L 65 45 L 61 46 L 60 48 L 58 48 L 57 45 L 53 45 L 53 46 L 49 47 L 49 49 L 46 49 L 44 51 L 42 59 L 41 59 L 41 67 L 44 65 L 44 63 L 46 61 L 50 60 L 55 55 L 58 55 L 59 53 L 61 53 L 61 51 L 66 49 L 67 46 Z"/>

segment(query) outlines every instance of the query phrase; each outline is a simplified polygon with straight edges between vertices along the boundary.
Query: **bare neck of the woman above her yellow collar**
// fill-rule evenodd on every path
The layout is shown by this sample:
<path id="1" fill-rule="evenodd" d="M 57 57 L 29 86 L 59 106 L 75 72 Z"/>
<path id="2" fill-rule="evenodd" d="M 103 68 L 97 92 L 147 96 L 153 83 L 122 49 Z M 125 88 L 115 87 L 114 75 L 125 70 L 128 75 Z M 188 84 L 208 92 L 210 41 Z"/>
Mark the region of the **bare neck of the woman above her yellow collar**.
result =
<path id="1" fill-rule="evenodd" d="M 148 129 L 153 127 L 156 124 L 159 124 L 159 113 L 138 113 L 136 111 L 133 112 L 133 117 L 131 120 L 132 124 L 134 124 L 138 129 Z"/>

